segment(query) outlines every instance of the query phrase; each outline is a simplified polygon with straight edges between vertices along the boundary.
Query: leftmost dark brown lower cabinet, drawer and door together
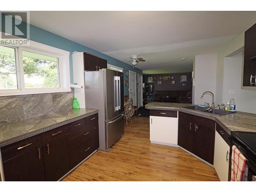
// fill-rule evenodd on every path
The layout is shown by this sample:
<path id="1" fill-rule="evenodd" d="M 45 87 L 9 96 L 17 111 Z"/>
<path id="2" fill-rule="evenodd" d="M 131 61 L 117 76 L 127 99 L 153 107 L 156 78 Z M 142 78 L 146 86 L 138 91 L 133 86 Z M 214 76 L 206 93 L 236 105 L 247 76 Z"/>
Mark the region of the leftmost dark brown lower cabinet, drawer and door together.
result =
<path id="1" fill-rule="evenodd" d="M 41 136 L 1 148 L 6 181 L 45 181 Z"/>

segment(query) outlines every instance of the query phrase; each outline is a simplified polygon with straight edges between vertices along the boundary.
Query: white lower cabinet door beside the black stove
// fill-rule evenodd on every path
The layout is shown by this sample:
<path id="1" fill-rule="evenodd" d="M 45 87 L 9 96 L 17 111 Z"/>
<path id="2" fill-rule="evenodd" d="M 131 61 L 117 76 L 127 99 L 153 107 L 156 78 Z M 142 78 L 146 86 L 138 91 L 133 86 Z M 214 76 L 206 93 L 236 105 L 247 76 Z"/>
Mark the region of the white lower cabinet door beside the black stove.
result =
<path id="1" fill-rule="evenodd" d="M 221 181 L 228 181 L 229 145 L 215 131 L 214 167 Z"/>

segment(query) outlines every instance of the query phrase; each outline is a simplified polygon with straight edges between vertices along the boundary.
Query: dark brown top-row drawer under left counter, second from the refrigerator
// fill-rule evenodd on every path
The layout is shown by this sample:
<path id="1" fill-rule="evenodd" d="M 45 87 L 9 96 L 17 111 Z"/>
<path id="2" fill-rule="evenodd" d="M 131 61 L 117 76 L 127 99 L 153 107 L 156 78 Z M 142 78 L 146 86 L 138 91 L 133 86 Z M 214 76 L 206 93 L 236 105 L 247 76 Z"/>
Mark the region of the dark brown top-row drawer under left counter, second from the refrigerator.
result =
<path id="1" fill-rule="evenodd" d="M 80 119 L 68 124 L 68 139 L 73 139 L 74 137 L 89 131 L 86 126 L 86 119 Z"/>

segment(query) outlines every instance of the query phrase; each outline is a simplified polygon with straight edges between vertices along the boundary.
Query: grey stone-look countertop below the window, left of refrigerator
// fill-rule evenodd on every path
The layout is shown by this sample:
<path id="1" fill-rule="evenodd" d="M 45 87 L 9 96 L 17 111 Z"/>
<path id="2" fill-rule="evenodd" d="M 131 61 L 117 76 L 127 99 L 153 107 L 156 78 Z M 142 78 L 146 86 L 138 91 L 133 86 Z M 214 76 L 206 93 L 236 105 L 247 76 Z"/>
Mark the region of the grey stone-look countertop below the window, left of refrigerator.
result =
<path id="1" fill-rule="evenodd" d="M 55 129 L 98 113 L 96 109 L 71 109 L 0 125 L 0 147 Z"/>

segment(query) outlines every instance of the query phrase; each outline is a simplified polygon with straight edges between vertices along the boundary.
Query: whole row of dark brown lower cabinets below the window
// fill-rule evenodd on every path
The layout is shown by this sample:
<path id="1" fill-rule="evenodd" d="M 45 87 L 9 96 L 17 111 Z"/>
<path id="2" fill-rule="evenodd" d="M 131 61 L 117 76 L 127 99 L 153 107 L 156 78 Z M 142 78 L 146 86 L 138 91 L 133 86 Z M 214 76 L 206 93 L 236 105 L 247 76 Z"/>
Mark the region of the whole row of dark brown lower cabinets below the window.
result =
<path id="1" fill-rule="evenodd" d="M 4 177 L 6 181 L 57 181 L 98 148 L 95 114 L 1 147 Z"/>

